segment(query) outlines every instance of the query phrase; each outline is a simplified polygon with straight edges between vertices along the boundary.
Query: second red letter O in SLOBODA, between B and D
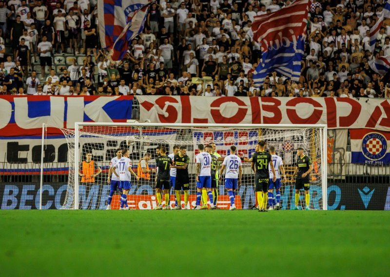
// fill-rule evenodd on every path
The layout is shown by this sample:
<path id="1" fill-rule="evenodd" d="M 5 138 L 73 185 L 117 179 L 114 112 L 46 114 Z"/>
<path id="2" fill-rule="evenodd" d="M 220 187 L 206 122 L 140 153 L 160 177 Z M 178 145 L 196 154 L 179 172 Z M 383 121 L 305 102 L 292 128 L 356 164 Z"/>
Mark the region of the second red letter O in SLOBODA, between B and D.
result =
<path id="1" fill-rule="evenodd" d="M 314 107 L 314 111 L 311 115 L 308 115 L 308 117 L 306 119 L 303 119 L 303 118 L 298 116 L 298 114 L 296 113 L 296 109 L 286 109 L 287 117 L 290 119 L 291 123 L 292 124 L 316 124 L 316 123 L 318 123 L 319 119 L 321 119 L 321 115 L 323 112 L 322 105 L 319 102 L 317 102 L 311 98 L 294 98 L 294 99 L 289 100 L 286 103 L 286 106 L 287 107 L 296 107 L 296 105 L 298 103 L 310 104 Z M 319 109 L 316 109 L 316 108 L 319 108 Z M 307 110 L 306 107 L 305 107 L 305 110 Z"/>

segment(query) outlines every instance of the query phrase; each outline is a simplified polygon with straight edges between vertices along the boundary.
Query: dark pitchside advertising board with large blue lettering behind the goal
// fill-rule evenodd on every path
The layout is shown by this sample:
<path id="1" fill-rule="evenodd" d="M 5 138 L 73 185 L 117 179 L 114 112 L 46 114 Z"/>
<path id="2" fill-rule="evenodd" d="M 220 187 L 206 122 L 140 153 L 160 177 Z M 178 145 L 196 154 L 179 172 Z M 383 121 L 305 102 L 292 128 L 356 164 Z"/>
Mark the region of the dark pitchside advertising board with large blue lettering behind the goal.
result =
<path id="1" fill-rule="evenodd" d="M 287 184 L 281 189 L 282 209 L 292 209 L 294 203 L 294 185 Z M 223 186 L 219 188 L 218 206 L 228 208 L 230 200 Z M 65 201 L 67 184 L 45 183 L 42 186 L 42 209 L 60 209 Z M 107 207 L 110 185 L 97 184 L 86 190 L 79 188 L 80 209 L 100 209 Z M 157 205 L 154 186 L 133 186 L 129 192 L 128 204 L 132 209 L 153 209 Z M 190 192 L 190 205 L 195 207 L 195 191 Z M 0 186 L 0 209 L 39 209 L 40 186 L 38 183 L 5 183 Z M 314 209 L 319 209 L 322 198 L 321 188 L 310 188 Z M 118 206 L 118 196 L 114 196 L 112 206 Z M 254 187 L 242 185 L 237 190 L 236 206 L 248 209 L 254 204 Z M 305 201 L 303 194 L 301 203 Z M 174 203 L 171 198 L 171 203 Z M 330 184 L 328 187 L 329 210 L 390 210 L 389 184 Z"/>

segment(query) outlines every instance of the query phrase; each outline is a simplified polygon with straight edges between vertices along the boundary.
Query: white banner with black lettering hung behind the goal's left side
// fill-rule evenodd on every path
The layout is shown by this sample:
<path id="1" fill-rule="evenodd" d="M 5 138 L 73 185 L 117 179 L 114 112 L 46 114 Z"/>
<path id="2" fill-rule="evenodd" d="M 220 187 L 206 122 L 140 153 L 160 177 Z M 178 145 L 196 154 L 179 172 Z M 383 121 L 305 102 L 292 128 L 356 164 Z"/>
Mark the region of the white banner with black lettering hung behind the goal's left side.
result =
<path id="1" fill-rule="evenodd" d="M 159 130 L 161 131 L 161 130 Z M 149 139 L 174 141 L 176 131 L 166 132 L 144 131 L 143 136 Z M 127 130 L 127 134 L 115 136 L 110 139 L 99 137 L 82 137 L 79 139 L 79 154 L 83 157 L 86 151 L 92 152 L 93 160 L 103 171 L 107 168 L 110 160 L 115 157 L 116 149 L 129 149 L 130 158 L 137 165 L 141 153 L 149 152 L 154 157 L 156 145 L 151 143 L 142 143 L 139 141 L 138 130 L 134 129 L 134 136 L 130 136 L 132 129 Z M 114 139 L 115 138 L 115 139 Z M 22 136 L 22 137 L 0 137 L 0 153 L 4 155 L 1 160 L 2 168 L 0 172 L 8 175 L 19 174 L 20 172 L 29 172 L 31 174 L 40 173 L 41 157 L 41 136 Z M 164 147 L 172 149 L 173 145 L 164 144 Z M 68 162 L 70 161 L 68 153 L 68 143 L 63 135 L 49 135 L 44 141 L 44 171 L 46 174 L 67 174 Z"/>

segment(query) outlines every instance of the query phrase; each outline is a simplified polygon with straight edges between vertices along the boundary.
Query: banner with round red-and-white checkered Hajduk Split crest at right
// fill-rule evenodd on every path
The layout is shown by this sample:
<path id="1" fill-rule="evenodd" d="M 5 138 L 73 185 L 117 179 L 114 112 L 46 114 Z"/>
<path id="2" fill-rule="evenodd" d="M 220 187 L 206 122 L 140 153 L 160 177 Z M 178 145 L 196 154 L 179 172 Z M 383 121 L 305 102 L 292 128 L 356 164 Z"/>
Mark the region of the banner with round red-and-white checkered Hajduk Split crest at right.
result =
<path id="1" fill-rule="evenodd" d="M 354 129 L 350 134 L 352 163 L 390 163 L 390 132 Z"/>

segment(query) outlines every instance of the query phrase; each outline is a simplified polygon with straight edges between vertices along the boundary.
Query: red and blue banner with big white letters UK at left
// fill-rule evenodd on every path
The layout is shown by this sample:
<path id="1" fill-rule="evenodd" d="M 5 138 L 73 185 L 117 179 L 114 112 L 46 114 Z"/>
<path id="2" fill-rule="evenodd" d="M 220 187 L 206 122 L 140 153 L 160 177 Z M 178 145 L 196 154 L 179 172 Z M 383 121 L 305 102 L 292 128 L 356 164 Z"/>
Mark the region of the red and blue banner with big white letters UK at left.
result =
<path id="1" fill-rule="evenodd" d="M 74 129 L 75 122 L 126 122 L 131 119 L 133 96 L 1 96 L 1 136 L 42 133 L 42 123 Z M 48 134 L 60 134 L 48 128 Z"/>

